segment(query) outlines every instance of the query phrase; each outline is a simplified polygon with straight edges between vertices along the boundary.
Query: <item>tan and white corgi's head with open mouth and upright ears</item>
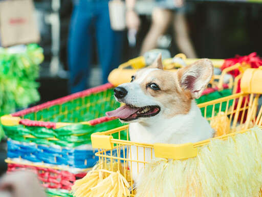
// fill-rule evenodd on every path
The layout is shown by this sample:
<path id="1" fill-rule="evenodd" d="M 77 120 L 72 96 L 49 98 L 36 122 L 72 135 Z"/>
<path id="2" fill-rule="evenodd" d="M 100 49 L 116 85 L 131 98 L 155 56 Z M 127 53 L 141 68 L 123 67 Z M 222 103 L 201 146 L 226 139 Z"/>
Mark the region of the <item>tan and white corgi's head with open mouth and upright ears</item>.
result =
<path id="1" fill-rule="evenodd" d="M 130 83 L 114 89 L 116 100 L 126 105 L 106 115 L 122 122 L 146 122 L 187 114 L 191 100 L 201 96 L 212 74 L 213 64 L 208 59 L 177 72 L 164 71 L 160 54 L 151 66 L 137 71 Z"/>

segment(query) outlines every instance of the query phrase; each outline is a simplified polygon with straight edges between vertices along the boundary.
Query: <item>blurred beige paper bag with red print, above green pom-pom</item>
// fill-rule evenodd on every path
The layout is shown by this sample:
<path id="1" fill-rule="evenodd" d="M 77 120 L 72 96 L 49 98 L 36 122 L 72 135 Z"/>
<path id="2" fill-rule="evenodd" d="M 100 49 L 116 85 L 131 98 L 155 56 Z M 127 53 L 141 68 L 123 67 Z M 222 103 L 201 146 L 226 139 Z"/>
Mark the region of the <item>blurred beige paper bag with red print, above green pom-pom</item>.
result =
<path id="1" fill-rule="evenodd" d="M 0 43 L 3 47 L 39 42 L 31 0 L 0 1 Z"/>

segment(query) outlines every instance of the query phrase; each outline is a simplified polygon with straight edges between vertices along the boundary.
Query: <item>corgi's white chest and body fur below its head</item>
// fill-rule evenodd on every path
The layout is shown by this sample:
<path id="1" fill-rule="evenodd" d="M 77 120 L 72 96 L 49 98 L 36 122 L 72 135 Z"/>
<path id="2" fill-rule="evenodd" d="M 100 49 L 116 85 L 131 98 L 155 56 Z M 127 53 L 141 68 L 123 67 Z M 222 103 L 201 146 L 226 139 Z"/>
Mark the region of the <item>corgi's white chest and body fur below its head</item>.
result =
<path id="1" fill-rule="evenodd" d="M 152 120 L 153 121 L 153 120 Z M 129 126 L 130 141 L 141 143 L 168 143 L 168 144 L 183 144 L 189 142 L 199 142 L 209 139 L 213 136 L 213 129 L 211 129 L 207 120 L 202 116 L 200 109 L 192 100 L 191 108 L 186 115 L 176 115 L 171 119 L 163 119 L 161 116 L 154 122 L 131 123 Z M 131 154 L 133 160 L 149 162 L 151 160 L 151 150 L 132 146 Z M 138 158 L 137 158 L 138 156 Z M 129 155 L 130 157 L 130 155 Z M 152 150 L 152 157 L 155 157 L 154 150 Z M 143 168 L 143 164 L 139 163 L 139 171 Z M 138 166 L 137 163 L 132 162 L 133 180 L 136 181 Z"/>

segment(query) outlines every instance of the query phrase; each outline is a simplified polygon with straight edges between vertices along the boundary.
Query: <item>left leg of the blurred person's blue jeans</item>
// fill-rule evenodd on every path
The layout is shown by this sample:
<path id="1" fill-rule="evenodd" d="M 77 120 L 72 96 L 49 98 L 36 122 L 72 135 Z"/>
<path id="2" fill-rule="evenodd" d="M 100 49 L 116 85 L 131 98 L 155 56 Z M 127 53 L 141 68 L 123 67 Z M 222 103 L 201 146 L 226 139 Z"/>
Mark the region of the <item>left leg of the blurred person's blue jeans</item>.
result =
<path id="1" fill-rule="evenodd" d="M 88 88 L 94 50 L 94 1 L 78 0 L 71 18 L 68 60 L 70 91 L 75 93 Z"/>

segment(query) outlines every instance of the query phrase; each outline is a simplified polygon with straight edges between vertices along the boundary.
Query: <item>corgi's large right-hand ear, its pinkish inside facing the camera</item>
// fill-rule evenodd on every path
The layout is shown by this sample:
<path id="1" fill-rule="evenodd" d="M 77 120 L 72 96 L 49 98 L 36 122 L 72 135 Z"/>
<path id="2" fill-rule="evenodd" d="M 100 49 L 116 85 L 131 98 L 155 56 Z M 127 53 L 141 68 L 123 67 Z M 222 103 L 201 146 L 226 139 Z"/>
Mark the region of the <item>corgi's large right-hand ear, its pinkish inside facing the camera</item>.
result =
<path id="1" fill-rule="evenodd" d="M 177 71 L 180 86 L 191 92 L 192 99 L 198 99 L 213 75 L 213 64 L 202 59 Z"/>

